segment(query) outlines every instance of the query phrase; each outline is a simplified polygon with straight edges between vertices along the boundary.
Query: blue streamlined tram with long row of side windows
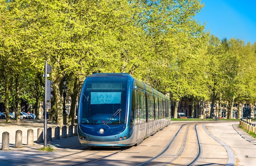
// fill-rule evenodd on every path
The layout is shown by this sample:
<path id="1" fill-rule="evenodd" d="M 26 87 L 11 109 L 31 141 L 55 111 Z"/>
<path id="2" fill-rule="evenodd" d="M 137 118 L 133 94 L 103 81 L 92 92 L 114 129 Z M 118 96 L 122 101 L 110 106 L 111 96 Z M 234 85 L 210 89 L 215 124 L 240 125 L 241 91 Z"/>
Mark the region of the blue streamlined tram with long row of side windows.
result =
<path id="1" fill-rule="evenodd" d="M 133 146 L 171 122 L 169 97 L 127 73 L 96 73 L 79 97 L 81 145 Z"/>

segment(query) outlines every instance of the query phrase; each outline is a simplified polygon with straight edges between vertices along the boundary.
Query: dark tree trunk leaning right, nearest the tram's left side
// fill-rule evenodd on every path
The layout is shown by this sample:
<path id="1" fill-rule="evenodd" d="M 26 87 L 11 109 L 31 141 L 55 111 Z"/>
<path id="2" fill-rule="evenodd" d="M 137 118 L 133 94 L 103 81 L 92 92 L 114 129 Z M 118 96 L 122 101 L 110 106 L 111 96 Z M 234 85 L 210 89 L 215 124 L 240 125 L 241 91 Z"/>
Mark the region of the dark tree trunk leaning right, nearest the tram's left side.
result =
<path id="1" fill-rule="evenodd" d="M 67 124 L 72 124 L 74 125 L 74 113 L 75 113 L 75 109 L 76 109 L 76 97 L 78 94 L 78 77 L 76 77 L 76 80 L 74 82 L 74 90 L 73 90 L 73 94 L 71 94 L 71 107 L 70 107 L 70 116 L 68 118 L 68 122 Z"/>

